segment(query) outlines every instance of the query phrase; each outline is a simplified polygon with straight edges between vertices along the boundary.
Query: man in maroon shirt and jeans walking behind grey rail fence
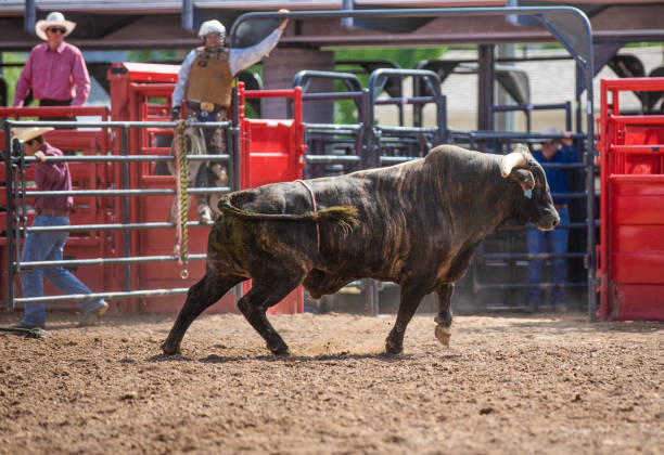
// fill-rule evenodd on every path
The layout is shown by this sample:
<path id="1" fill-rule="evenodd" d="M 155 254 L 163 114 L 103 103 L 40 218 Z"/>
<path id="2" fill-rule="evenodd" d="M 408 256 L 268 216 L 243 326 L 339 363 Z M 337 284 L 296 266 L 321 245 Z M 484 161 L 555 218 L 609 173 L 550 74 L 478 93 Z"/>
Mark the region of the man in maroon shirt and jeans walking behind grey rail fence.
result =
<path id="1" fill-rule="evenodd" d="M 23 142 L 25 155 L 37 158 L 35 164 L 35 183 L 37 191 L 71 191 L 72 177 L 69 167 L 64 161 L 47 161 L 47 157 L 60 157 L 63 153 L 44 141 L 42 134 L 53 128 L 23 128 L 14 129 L 13 136 Z M 33 226 L 69 225 L 69 211 L 74 205 L 72 196 L 36 197 L 35 221 Z M 61 261 L 62 252 L 67 240 L 67 232 L 33 232 L 27 235 L 23 245 L 21 262 Z M 65 294 L 92 294 L 68 270 L 43 268 L 24 270 L 21 274 L 21 288 L 23 297 L 43 296 L 42 275 L 55 287 Z M 82 311 L 81 326 L 95 323 L 108 309 L 103 299 L 79 301 Z M 26 303 L 23 320 L 14 328 L 37 328 L 46 324 L 46 306 L 43 303 Z"/>

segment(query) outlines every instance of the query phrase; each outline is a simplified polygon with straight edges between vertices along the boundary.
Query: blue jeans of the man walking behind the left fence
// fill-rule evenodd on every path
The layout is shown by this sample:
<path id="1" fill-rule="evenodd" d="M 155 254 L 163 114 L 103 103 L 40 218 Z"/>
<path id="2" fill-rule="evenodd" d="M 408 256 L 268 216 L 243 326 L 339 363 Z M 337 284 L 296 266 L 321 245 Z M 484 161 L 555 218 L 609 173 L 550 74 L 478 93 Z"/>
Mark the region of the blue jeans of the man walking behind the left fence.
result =
<path id="1" fill-rule="evenodd" d="M 61 226 L 69 225 L 68 217 L 37 216 L 33 226 Z M 30 233 L 23 245 L 21 262 L 33 261 L 61 261 L 62 250 L 67 240 L 67 232 Z M 92 291 L 74 276 L 68 270 L 61 266 L 26 270 L 21 274 L 21 288 L 23 297 L 43 296 L 42 274 L 49 278 L 64 294 L 92 294 Z M 104 303 L 102 299 L 79 301 L 78 306 L 87 313 Z M 46 324 L 46 304 L 26 303 L 23 323 L 43 326 Z"/>

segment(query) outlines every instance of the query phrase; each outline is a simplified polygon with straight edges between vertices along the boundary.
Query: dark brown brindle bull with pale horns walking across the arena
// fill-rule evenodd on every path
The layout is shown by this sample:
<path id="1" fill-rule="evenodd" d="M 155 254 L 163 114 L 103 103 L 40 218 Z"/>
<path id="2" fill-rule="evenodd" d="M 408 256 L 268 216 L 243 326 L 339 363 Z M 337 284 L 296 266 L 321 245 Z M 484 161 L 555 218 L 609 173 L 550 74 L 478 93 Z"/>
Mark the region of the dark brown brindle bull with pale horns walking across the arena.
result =
<path id="1" fill-rule="evenodd" d="M 318 299 L 363 277 L 401 286 L 388 353 L 401 352 L 406 326 L 433 291 L 436 336 L 447 344 L 454 283 L 480 242 L 503 224 L 559 222 L 544 170 L 524 146 L 498 156 L 442 145 L 398 166 L 239 191 L 219 208 L 205 276 L 189 289 L 167 354 L 179 351 L 193 320 L 248 278 L 238 307 L 277 355 L 289 348 L 266 317 L 269 307 L 301 284 Z"/>

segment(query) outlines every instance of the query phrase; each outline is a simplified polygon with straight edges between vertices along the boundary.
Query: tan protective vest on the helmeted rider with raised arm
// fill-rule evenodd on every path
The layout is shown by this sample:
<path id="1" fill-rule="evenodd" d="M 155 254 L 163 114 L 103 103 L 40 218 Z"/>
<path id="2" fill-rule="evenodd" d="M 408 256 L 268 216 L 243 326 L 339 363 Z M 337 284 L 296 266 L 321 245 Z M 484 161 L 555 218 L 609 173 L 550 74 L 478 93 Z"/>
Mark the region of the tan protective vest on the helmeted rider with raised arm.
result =
<path id="1" fill-rule="evenodd" d="M 233 75 L 228 63 L 229 50 L 209 53 L 205 48 L 197 48 L 196 51 L 199 55 L 191 66 L 187 100 L 230 106 Z"/>

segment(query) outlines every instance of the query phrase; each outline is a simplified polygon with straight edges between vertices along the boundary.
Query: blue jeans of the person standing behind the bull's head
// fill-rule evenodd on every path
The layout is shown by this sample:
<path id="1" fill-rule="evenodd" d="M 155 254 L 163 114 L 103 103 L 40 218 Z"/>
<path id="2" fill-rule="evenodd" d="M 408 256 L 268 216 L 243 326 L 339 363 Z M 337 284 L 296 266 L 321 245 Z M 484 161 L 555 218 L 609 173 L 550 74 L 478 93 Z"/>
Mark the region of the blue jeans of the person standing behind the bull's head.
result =
<path id="1" fill-rule="evenodd" d="M 570 223 L 570 211 L 567 208 L 558 210 L 561 224 Z M 553 231 L 539 231 L 531 229 L 527 232 L 528 252 L 531 255 L 539 252 L 565 253 L 567 252 L 567 237 L 570 230 L 554 229 Z M 565 258 L 552 258 L 551 261 L 551 282 L 563 284 L 567 277 L 567 260 Z M 539 284 L 542 281 L 542 260 L 531 259 L 528 266 L 528 284 Z M 537 307 L 541 300 L 541 289 L 528 289 L 526 295 L 526 306 Z M 565 304 L 565 289 L 554 287 L 551 289 L 551 303 L 553 306 Z"/>

